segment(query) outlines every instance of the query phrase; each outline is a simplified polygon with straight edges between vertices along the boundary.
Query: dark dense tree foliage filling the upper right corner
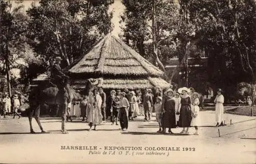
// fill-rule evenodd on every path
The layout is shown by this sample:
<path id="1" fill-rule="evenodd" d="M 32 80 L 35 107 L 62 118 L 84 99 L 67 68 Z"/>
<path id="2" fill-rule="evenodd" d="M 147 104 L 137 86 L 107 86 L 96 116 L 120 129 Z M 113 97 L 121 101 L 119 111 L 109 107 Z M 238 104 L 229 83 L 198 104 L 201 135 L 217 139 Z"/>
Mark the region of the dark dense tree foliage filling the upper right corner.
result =
<path id="1" fill-rule="evenodd" d="M 239 82 L 255 83 L 255 1 L 190 1 L 198 47 L 209 56 L 208 76 L 232 95 Z"/>

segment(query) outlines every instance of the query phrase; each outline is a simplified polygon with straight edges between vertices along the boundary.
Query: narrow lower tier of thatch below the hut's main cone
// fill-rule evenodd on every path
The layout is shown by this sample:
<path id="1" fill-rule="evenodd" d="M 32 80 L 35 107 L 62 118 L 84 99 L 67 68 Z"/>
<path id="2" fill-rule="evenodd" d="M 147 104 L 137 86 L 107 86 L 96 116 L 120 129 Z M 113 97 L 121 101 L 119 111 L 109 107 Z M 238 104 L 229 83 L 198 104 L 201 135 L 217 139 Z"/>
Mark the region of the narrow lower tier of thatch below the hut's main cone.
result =
<path id="1" fill-rule="evenodd" d="M 76 89 L 82 89 L 86 86 L 84 85 L 84 80 L 74 80 L 72 87 Z M 138 78 L 138 79 L 103 79 L 103 83 L 99 85 L 104 89 L 145 89 L 159 86 L 160 88 L 167 88 L 170 85 L 161 78 Z"/>

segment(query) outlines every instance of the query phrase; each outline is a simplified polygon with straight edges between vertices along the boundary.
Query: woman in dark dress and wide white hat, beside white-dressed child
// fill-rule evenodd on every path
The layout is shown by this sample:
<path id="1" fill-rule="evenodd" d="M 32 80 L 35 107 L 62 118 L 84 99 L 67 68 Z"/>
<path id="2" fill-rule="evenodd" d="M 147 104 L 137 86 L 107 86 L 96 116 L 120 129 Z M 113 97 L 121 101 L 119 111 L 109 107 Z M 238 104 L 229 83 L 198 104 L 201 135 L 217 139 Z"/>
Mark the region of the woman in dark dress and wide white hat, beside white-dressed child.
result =
<path id="1" fill-rule="evenodd" d="M 183 95 L 181 97 L 180 105 L 178 109 L 178 112 L 180 113 L 178 126 L 183 128 L 183 130 L 181 131 L 181 134 L 188 134 L 188 129 L 190 127 L 190 123 L 192 120 L 192 116 L 191 116 L 192 101 L 190 96 L 188 95 L 188 92 L 190 92 L 190 90 L 186 87 L 183 87 L 182 89 L 178 89 L 178 91 L 179 90 L 181 90 Z M 187 129 L 185 130 L 185 128 Z"/>

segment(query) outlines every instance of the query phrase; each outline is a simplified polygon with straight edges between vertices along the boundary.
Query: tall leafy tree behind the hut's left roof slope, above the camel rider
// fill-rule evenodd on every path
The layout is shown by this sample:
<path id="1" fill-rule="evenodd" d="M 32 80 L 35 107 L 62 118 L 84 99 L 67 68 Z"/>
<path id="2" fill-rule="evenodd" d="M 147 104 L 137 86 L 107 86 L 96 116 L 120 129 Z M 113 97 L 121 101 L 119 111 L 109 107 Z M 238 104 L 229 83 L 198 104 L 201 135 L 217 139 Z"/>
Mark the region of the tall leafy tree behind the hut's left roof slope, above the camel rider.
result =
<path id="1" fill-rule="evenodd" d="M 30 21 L 29 44 L 47 61 L 61 56 L 65 66 L 91 48 L 112 30 L 114 1 L 40 1 L 27 11 Z"/>

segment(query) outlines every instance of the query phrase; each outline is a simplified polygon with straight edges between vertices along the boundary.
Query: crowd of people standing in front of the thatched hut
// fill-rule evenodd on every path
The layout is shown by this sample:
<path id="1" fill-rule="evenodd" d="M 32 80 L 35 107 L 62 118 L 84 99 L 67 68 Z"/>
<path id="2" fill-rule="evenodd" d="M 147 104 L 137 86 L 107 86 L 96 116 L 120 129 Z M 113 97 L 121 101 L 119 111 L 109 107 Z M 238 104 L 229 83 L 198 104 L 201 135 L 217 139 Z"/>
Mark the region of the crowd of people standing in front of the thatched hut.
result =
<path id="1" fill-rule="evenodd" d="M 91 130 L 97 130 L 97 125 L 110 119 L 112 125 L 119 125 L 126 131 L 129 121 L 133 121 L 140 114 L 139 104 L 143 106 L 144 122 L 152 121 L 152 112 L 156 112 L 156 121 L 159 124 L 157 132 L 173 133 L 172 128 L 182 127 L 182 134 L 188 134 L 189 127 L 195 127 L 198 135 L 200 126 L 199 110 L 202 108 L 203 96 L 193 88 L 178 90 L 161 90 L 155 87 L 144 89 L 143 94 L 137 90 L 111 90 L 110 96 L 102 88 L 95 88 L 89 97 L 80 102 L 81 115 L 87 120 Z M 217 100 L 219 102 L 219 100 Z M 218 126 L 221 125 L 218 124 Z M 94 128 L 93 128 L 94 127 Z"/>

